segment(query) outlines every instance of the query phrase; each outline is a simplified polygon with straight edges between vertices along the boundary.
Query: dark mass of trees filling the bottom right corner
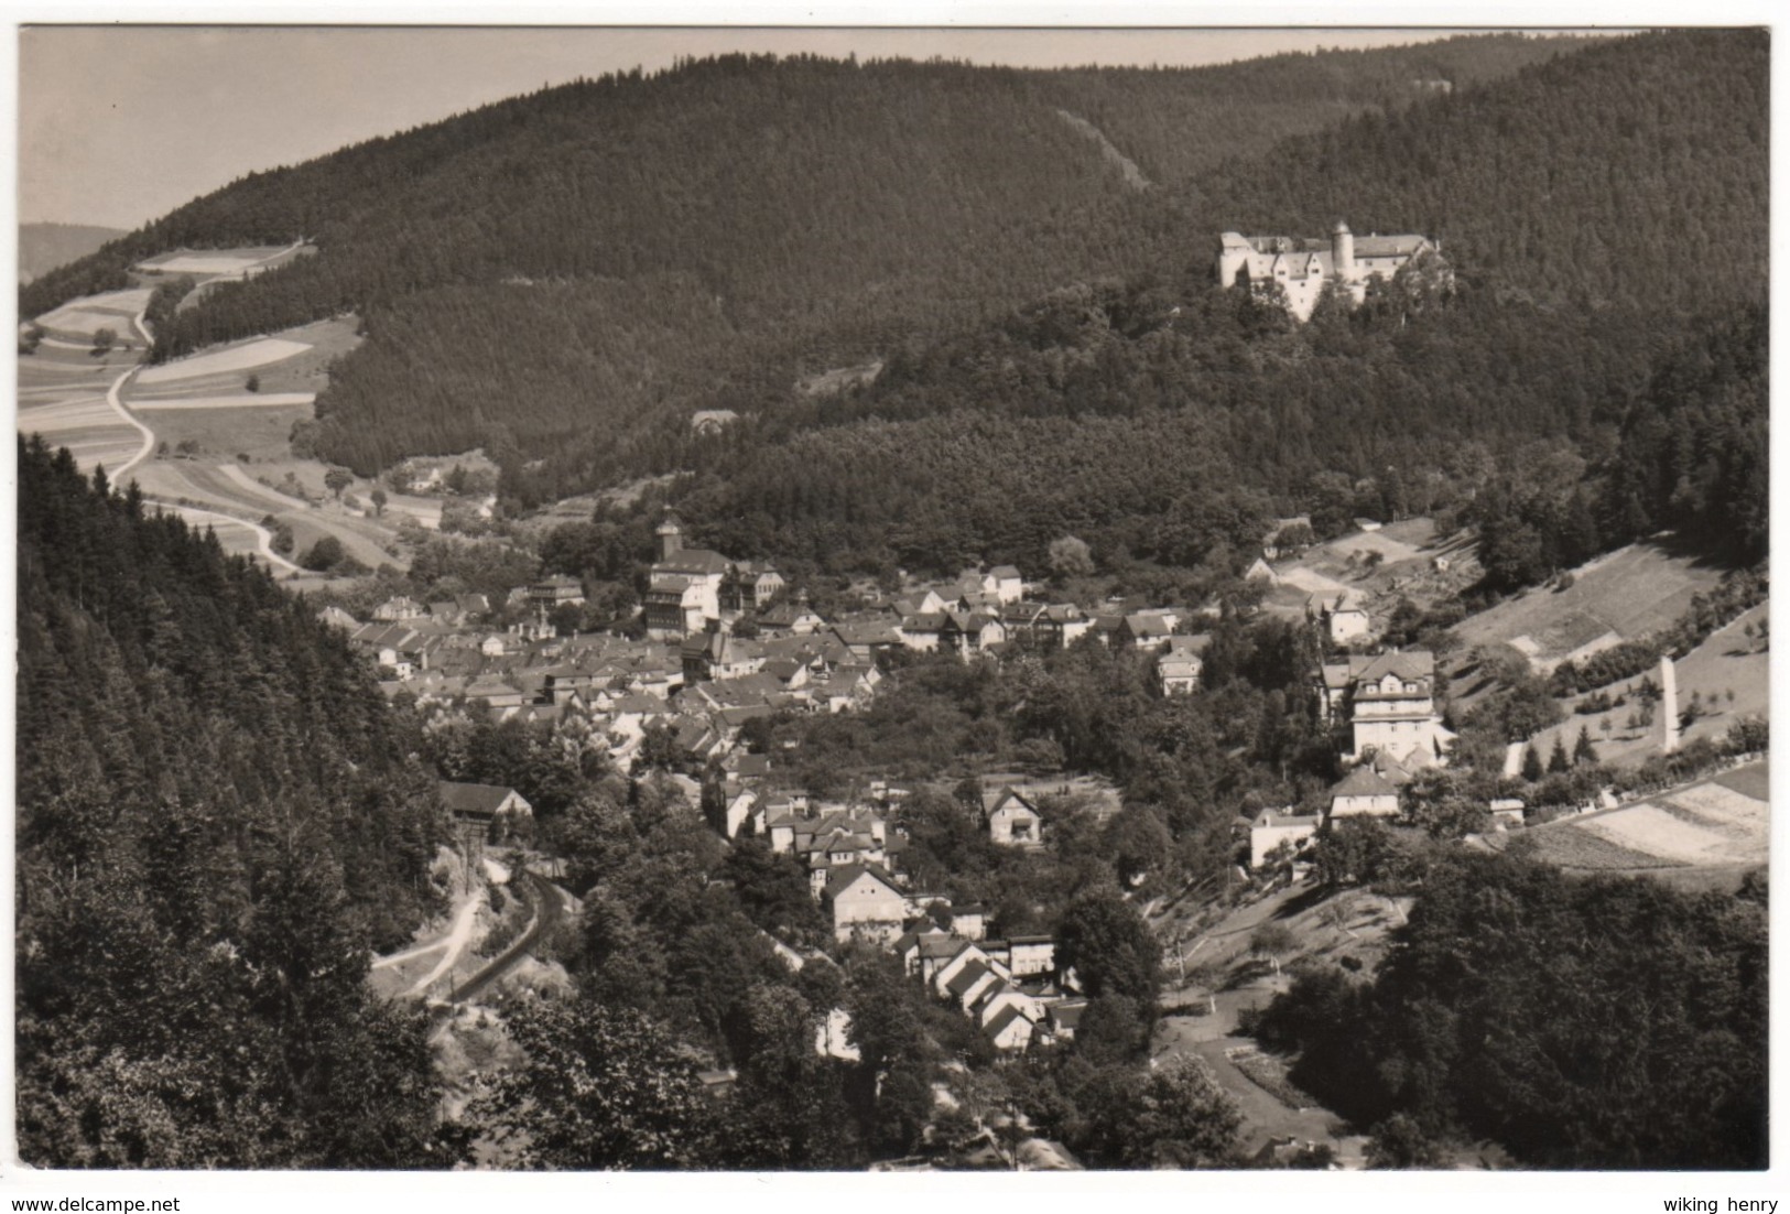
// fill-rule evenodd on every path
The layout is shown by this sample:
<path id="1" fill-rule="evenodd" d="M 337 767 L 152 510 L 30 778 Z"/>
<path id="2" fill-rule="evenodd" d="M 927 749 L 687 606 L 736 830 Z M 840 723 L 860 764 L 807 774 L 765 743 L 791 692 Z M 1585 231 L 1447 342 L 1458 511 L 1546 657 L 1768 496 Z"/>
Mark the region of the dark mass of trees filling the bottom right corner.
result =
<path id="1" fill-rule="evenodd" d="M 1765 1167 L 1765 890 L 1455 852 L 1373 981 L 1301 974 L 1262 1039 L 1405 1166 L 1486 1135 L 1530 1167 Z"/>

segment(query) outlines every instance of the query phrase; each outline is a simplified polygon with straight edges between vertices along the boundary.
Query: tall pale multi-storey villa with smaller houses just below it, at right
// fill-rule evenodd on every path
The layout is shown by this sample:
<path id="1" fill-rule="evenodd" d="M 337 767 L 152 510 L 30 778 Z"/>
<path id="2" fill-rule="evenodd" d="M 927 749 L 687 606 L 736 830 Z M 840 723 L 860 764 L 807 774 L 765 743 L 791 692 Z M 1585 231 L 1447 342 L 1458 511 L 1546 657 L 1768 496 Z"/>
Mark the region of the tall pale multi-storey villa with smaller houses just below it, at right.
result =
<path id="1" fill-rule="evenodd" d="M 1321 813 L 1264 809 L 1249 820 L 1251 868 L 1260 868 L 1283 845 L 1300 851 L 1325 822 L 1396 816 L 1398 790 L 1423 768 L 1448 763 L 1455 734 L 1443 725 L 1436 704 L 1434 654 L 1407 650 L 1325 663 L 1317 693 L 1325 720 L 1353 766 L 1330 790 Z"/>

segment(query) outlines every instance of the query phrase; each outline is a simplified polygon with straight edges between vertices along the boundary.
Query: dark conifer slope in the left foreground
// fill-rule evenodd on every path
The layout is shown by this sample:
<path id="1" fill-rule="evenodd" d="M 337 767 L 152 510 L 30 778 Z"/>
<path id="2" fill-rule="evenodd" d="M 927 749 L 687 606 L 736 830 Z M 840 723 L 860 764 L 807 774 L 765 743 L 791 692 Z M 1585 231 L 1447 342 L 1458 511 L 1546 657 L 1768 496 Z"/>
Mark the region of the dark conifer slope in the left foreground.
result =
<path id="1" fill-rule="evenodd" d="M 209 535 L 20 448 L 18 1133 L 52 1167 L 430 1162 L 369 949 L 437 899 L 367 668 Z"/>

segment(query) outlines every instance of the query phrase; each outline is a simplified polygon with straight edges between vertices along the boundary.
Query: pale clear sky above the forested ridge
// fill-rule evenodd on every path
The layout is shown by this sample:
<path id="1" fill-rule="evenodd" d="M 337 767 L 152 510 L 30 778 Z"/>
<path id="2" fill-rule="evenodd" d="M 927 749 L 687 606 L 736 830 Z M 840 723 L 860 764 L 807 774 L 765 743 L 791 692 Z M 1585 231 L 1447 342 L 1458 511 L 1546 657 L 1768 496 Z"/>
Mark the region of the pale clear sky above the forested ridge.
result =
<path id="1" fill-rule="evenodd" d="M 666 68 L 680 56 L 745 50 L 1190 66 L 1448 32 L 27 25 L 18 43 L 18 218 L 138 227 L 254 170 L 542 84 Z"/>

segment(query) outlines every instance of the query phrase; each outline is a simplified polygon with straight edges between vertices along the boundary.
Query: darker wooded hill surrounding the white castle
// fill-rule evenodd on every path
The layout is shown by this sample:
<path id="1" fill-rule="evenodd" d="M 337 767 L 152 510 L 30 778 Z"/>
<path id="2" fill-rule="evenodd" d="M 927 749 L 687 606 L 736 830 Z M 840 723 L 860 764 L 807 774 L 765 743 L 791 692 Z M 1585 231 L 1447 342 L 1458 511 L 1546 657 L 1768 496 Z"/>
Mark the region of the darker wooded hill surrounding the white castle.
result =
<path id="1" fill-rule="evenodd" d="M 1228 163 L 1189 202 L 1203 240 L 1346 213 L 1441 236 L 1453 288 L 1407 274 L 1305 326 L 1217 294 L 1205 263 L 1061 288 L 895 351 L 848 399 L 768 405 L 695 451 L 687 514 L 714 543 L 775 534 L 865 568 L 1036 566 L 1065 532 L 1181 564 L 1251 505 L 1332 530 L 1514 510 L 1507 584 L 1659 526 L 1756 559 L 1767 79 L 1760 34 L 1634 38 Z"/>

